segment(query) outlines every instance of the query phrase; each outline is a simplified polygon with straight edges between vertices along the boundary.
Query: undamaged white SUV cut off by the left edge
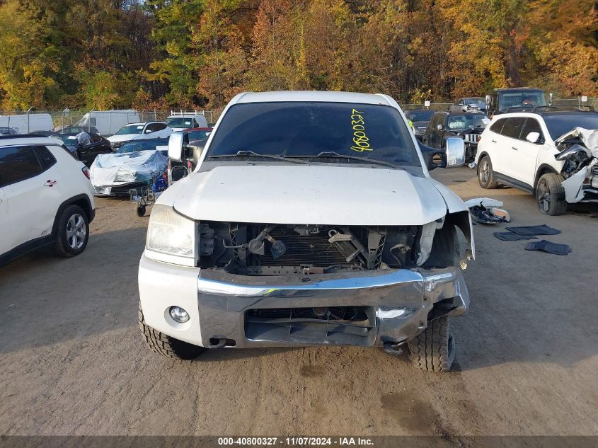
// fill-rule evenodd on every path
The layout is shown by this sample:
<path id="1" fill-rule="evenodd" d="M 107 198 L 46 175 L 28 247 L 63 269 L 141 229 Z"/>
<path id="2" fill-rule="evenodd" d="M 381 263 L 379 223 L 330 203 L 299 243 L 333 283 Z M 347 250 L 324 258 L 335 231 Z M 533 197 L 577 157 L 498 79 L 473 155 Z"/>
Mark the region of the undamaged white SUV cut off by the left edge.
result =
<path id="1" fill-rule="evenodd" d="M 0 265 L 49 245 L 79 255 L 95 212 L 88 168 L 62 142 L 0 137 Z"/>

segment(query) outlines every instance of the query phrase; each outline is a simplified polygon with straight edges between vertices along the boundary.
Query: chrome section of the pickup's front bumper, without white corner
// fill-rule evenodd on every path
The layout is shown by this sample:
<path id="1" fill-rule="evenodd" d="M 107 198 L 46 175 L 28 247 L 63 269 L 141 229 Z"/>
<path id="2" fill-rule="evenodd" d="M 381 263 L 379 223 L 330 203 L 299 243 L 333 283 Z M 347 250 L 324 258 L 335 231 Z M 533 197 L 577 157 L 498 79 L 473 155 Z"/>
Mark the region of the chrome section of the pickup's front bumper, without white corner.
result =
<path id="1" fill-rule="evenodd" d="M 264 326 L 260 331 L 249 328 L 246 319 L 250 309 L 337 306 L 366 310 L 367 331 L 352 326 L 341 328 L 334 321 L 310 321 L 298 326 L 289 321 L 285 327 L 281 319 L 277 326 L 268 327 L 268 331 Z M 289 277 L 248 277 L 200 270 L 197 278 L 197 316 L 201 345 L 206 347 L 224 339 L 234 340 L 236 348 L 401 343 L 423 331 L 428 318 L 459 316 L 468 306 L 467 288 L 458 268 Z M 301 331 L 297 331 L 299 327 Z"/>

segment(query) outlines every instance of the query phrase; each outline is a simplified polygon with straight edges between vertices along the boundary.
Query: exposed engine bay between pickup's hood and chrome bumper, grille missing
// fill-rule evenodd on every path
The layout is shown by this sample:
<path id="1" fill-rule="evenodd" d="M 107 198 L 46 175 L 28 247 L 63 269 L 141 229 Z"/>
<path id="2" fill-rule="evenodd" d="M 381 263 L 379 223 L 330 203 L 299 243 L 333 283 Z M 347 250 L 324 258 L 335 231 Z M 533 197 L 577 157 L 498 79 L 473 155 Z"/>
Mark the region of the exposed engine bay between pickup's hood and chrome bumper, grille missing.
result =
<path id="1" fill-rule="evenodd" d="M 412 268 L 422 226 L 199 224 L 200 267 L 238 275 Z"/>

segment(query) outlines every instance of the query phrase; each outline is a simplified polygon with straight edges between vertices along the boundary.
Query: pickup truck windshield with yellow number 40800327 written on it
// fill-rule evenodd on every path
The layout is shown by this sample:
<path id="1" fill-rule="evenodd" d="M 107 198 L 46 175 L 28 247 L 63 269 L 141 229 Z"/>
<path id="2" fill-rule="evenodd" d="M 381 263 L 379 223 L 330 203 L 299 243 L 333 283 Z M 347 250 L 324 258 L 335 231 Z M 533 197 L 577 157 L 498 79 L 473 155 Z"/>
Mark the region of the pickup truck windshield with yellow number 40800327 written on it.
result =
<path id="1" fill-rule="evenodd" d="M 359 163 L 342 159 L 357 156 L 421 166 L 401 115 L 386 105 L 299 101 L 237 104 L 224 115 L 207 158 L 236 157 L 239 151 L 294 158 L 316 158 L 326 153 L 330 156 L 319 156 L 318 161 Z"/>

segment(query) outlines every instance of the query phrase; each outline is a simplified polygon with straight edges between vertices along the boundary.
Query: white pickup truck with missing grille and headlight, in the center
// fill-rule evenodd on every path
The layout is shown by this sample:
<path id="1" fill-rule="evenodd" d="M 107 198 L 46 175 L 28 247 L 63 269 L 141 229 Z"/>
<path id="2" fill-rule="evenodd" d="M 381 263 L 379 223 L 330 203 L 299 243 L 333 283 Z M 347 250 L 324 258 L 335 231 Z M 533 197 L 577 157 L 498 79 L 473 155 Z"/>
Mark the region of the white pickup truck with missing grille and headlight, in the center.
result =
<path id="1" fill-rule="evenodd" d="M 168 156 L 187 149 L 175 132 Z M 430 169 L 462 139 L 420 147 L 389 96 L 241 93 L 194 171 L 151 212 L 139 263 L 149 347 L 357 345 L 451 367 L 450 319 L 468 310 L 468 208 Z M 461 238 L 459 238 L 461 237 Z"/>

